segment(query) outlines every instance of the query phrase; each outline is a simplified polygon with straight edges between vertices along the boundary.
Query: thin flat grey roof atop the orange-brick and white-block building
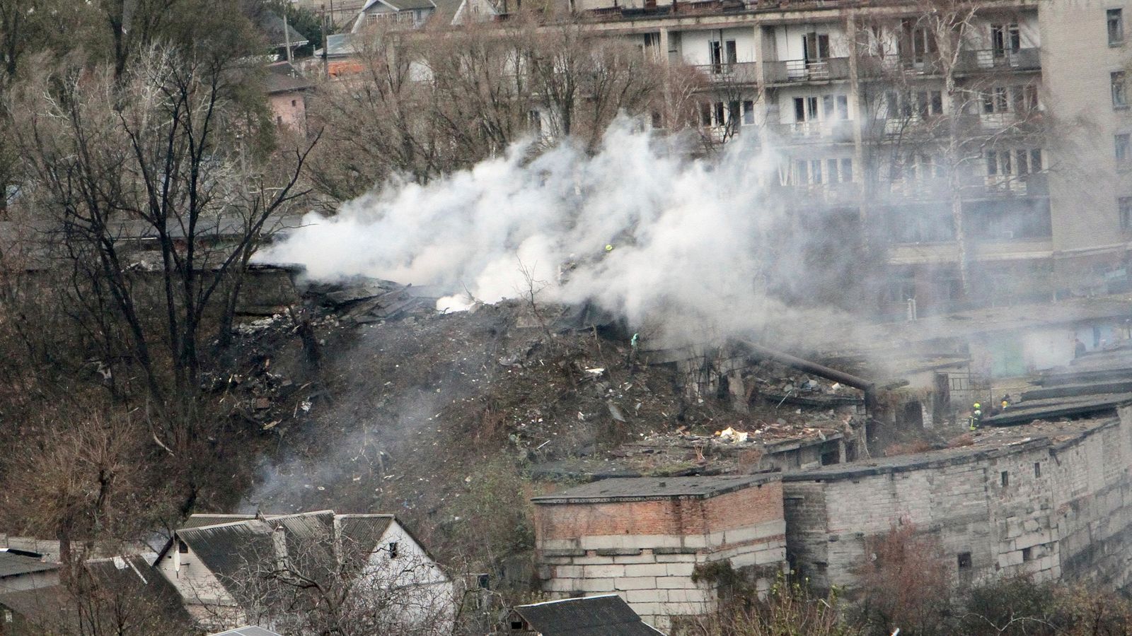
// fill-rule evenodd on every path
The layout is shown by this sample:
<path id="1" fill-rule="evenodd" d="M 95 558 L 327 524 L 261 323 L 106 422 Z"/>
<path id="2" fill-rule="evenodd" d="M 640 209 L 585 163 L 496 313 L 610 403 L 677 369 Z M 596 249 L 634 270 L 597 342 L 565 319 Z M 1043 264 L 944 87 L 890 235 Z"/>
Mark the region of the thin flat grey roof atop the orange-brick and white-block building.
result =
<path id="1" fill-rule="evenodd" d="M 780 475 L 688 476 L 688 478 L 612 478 L 595 481 L 561 492 L 541 495 L 535 504 L 577 504 L 593 501 L 640 501 L 648 499 L 707 499 L 745 488 L 778 481 Z"/>

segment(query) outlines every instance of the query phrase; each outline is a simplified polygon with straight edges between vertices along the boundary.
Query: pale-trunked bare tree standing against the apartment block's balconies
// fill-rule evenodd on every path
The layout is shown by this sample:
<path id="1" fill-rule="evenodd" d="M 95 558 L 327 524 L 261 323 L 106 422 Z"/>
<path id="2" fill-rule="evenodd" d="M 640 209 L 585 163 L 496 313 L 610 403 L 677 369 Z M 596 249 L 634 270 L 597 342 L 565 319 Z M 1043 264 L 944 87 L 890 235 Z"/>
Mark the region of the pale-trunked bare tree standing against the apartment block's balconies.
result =
<path id="1" fill-rule="evenodd" d="M 1002 34 L 996 49 L 978 50 L 981 17 L 980 3 L 970 0 L 921 0 L 906 17 L 855 28 L 867 126 L 866 205 L 895 194 L 893 187 L 909 200 L 945 200 L 963 298 L 971 292 L 964 199 L 975 189 L 1024 188 L 1031 172 L 1047 167 L 1039 87 L 1013 74 L 1024 62 L 1017 29 Z M 1012 167 L 974 183 L 1000 156 Z"/>

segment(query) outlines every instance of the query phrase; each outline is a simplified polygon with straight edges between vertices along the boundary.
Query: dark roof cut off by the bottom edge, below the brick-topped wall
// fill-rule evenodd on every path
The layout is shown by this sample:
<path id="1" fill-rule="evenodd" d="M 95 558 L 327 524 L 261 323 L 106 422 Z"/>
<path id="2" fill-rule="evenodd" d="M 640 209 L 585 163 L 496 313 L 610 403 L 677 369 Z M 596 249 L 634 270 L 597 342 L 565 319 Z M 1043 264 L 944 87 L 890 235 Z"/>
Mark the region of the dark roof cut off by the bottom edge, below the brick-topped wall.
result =
<path id="1" fill-rule="evenodd" d="M 617 594 L 520 605 L 515 611 L 542 636 L 663 636 Z"/>

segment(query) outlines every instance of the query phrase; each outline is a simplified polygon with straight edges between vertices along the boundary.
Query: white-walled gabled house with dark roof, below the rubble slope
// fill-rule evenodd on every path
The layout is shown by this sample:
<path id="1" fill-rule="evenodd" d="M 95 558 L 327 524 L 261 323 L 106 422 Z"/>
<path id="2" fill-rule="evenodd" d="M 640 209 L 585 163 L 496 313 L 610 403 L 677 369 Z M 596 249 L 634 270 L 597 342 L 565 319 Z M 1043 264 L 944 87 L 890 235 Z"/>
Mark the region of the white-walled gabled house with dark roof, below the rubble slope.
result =
<path id="1" fill-rule="evenodd" d="M 454 620 L 452 579 L 393 515 L 194 515 L 154 567 L 209 630 L 312 633 L 326 593 L 333 620 L 366 628 L 439 635 Z"/>

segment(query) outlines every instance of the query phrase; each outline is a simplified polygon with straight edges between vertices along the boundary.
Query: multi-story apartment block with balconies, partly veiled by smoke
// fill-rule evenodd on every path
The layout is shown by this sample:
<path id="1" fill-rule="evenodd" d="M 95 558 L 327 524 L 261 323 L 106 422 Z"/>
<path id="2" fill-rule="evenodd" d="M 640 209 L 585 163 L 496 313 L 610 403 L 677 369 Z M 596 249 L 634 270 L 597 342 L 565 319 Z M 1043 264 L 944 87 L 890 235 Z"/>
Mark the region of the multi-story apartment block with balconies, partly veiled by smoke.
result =
<path id="1" fill-rule="evenodd" d="M 882 303 L 1095 292 L 1125 278 L 1125 3 L 575 0 L 701 69 L 701 123 L 786 158 L 775 188 L 883 260 Z M 849 250 L 852 253 L 854 250 Z M 858 258 L 842 259 L 842 280 Z"/>

